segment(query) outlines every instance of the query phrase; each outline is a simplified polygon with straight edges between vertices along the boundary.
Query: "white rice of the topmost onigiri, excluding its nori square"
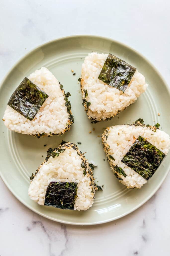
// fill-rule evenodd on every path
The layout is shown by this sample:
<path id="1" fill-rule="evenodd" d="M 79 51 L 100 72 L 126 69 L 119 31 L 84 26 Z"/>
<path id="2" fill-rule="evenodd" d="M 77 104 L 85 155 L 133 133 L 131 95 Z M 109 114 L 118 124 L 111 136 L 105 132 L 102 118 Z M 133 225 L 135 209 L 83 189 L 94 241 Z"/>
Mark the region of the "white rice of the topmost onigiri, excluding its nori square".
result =
<path id="1" fill-rule="evenodd" d="M 86 101 L 91 102 L 87 115 L 89 119 L 106 120 L 134 103 L 148 86 L 145 77 L 137 70 L 123 93 L 98 79 L 108 54 L 92 52 L 88 54 L 82 65 L 81 90 L 87 90 Z"/>

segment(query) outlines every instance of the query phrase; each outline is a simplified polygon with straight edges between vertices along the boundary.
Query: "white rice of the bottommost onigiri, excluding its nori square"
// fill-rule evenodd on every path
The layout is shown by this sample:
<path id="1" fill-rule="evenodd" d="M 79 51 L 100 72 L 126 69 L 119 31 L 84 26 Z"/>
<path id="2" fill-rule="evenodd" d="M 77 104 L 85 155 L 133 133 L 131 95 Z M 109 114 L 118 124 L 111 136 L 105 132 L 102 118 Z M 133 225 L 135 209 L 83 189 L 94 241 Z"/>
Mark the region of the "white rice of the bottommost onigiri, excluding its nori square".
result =
<path id="1" fill-rule="evenodd" d="M 38 204 L 44 205 L 47 186 L 50 182 L 56 181 L 78 183 L 74 210 L 87 210 L 93 205 L 95 194 L 93 174 L 87 172 L 84 176 L 84 169 L 81 167 L 82 159 L 86 161 L 86 165 L 90 169 L 88 161 L 79 150 L 73 149 L 72 145 L 74 144 L 67 143 L 63 153 L 55 158 L 51 156 L 47 162 L 40 166 L 28 190 L 30 198 Z"/>

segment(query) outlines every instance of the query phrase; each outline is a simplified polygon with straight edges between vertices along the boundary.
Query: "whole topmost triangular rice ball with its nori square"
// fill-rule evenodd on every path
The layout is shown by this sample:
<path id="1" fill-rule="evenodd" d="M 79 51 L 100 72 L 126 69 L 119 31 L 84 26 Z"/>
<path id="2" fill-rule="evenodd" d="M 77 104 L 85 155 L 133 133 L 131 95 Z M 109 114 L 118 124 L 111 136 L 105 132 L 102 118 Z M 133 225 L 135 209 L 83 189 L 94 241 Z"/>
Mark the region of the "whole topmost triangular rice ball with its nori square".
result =
<path id="1" fill-rule="evenodd" d="M 82 64 L 83 106 L 91 123 L 113 118 L 134 103 L 147 86 L 136 68 L 112 54 L 92 52 Z"/>

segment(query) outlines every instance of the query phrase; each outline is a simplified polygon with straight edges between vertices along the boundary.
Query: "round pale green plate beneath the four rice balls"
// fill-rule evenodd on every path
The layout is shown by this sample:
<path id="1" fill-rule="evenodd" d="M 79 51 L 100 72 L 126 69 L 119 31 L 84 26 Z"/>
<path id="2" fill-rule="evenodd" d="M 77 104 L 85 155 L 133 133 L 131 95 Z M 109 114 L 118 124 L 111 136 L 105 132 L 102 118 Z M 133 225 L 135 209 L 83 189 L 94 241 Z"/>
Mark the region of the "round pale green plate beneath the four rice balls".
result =
<path id="1" fill-rule="evenodd" d="M 149 84 L 146 92 L 126 110 L 110 121 L 91 124 L 82 106 L 80 83 L 81 65 L 91 51 L 111 53 L 136 67 Z M 151 125 L 160 123 L 170 134 L 170 97 L 168 86 L 160 73 L 141 54 L 112 39 L 97 36 L 71 36 L 57 39 L 37 47 L 22 58 L 7 74 L 1 85 L 1 117 L 7 102 L 25 76 L 42 66 L 48 68 L 71 93 L 70 101 L 75 122 L 71 130 L 63 136 L 35 138 L 29 135 L 10 132 L 1 121 L 1 161 L 0 174 L 10 191 L 28 208 L 51 220 L 76 225 L 93 225 L 121 218 L 144 204 L 161 186 L 169 171 L 170 154 L 159 170 L 141 189 L 127 189 L 120 184 L 106 160 L 101 135 L 103 128 L 132 123 L 143 118 Z M 71 69 L 76 73 L 73 76 Z M 161 114 L 158 116 L 158 112 Z M 93 131 L 95 127 L 95 131 Z M 89 134 L 89 131 L 92 131 Z M 79 148 L 86 152 L 87 159 L 98 166 L 94 177 L 103 191 L 96 192 L 93 206 L 87 211 L 61 210 L 40 206 L 28 196 L 29 176 L 41 164 L 49 147 L 56 147 L 61 140 L 81 142 Z M 47 144 L 44 147 L 44 144 Z M 103 161 L 105 159 L 105 161 Z"/>

